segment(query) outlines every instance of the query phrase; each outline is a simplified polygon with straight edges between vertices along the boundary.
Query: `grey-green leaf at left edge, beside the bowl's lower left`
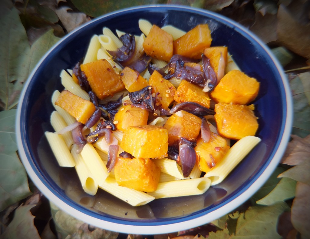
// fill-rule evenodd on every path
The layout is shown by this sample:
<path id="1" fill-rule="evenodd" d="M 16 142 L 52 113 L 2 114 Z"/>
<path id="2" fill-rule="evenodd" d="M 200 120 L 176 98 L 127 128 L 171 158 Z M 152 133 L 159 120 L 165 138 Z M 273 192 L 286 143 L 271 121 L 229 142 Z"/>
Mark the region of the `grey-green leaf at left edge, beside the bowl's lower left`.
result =
<path id="1" fill-rule="evenodd" d="M 16 153 L 0 154 L 0 211 L 31 195 L 27 174 Z"/>

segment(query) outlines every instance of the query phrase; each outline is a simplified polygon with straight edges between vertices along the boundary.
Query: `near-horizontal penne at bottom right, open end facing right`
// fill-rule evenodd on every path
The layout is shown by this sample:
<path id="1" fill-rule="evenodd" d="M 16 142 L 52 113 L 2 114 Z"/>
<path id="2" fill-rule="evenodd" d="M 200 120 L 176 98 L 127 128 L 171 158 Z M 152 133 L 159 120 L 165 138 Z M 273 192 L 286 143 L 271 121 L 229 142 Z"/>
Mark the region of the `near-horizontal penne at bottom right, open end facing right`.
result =
<path id="1" fill-rule="evenodd" d="M 199 195 L 206 192 L 210 184 L 211 180 L 209 178 L 175 180 L 158 183 L 156 191 L 148 192 L 148 194 L 155 197 L 155 199 Z"/>

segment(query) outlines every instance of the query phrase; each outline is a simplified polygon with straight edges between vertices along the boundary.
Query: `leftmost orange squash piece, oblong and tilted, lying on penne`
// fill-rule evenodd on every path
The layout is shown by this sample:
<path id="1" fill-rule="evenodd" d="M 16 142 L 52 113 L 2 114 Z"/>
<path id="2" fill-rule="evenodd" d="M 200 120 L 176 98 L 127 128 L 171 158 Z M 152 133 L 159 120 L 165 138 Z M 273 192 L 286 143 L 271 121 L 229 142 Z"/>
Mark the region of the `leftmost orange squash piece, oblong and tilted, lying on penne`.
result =
<path id="1" fill-rule="evenodd" d="M 60 106 L 72 115 L 78 122 L 85 124 L 96 107 L 91 101 L 87 101 L 68 90 L 63 90 L 55 101 L 55 105 Z"/>

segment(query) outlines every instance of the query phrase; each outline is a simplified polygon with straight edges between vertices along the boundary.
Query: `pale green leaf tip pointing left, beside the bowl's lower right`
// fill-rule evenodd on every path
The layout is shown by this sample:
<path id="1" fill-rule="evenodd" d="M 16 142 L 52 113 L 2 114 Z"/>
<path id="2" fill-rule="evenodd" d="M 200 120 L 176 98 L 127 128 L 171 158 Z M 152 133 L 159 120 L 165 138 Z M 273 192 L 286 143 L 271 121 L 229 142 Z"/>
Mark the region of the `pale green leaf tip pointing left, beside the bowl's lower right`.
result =
<path id="1" fill-rule="evenodd" d="M 296 181 L 282 178 L 277 186 L 264 198 L 256 201 L 259 205 L 272 205 L 278 201 L 285 201 L 295 196 Z"/>

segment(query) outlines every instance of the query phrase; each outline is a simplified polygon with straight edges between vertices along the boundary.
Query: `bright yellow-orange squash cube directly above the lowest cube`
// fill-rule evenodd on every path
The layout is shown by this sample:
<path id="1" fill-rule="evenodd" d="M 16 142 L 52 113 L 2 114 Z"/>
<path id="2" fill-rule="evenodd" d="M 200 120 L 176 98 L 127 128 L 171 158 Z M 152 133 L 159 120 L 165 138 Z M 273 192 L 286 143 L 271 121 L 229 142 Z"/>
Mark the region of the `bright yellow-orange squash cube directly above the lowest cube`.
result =
<path id="1" fill-rule="evenodd" d="M 121 148 L 136 158 L 164 158 L 168 155 L 168 131 L 155 125 L 129 126 Z"/>

